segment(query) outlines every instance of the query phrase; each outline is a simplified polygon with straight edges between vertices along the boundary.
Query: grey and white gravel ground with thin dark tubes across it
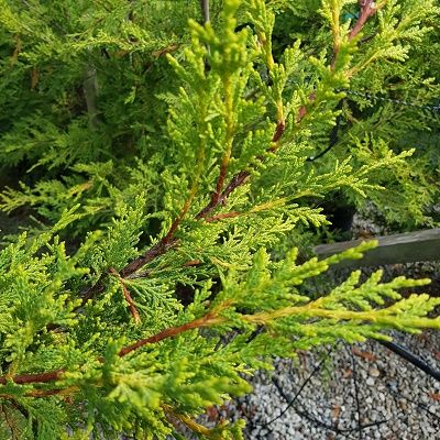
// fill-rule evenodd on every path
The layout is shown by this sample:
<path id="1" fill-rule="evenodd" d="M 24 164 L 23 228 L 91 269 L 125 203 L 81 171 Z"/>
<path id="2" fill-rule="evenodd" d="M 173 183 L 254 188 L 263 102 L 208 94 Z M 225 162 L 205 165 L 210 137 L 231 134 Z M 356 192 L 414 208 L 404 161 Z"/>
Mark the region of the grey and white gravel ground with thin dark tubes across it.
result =
<path id="1" fill-rule="evenodd" d="M 440 369 L 440 334 L 395 340 Z M 440 383 L 371 341 L 279 360 L 228 414 L 246 439 L 440 439 Z M 224 416 L 228 416 L 224 414 Z"/>

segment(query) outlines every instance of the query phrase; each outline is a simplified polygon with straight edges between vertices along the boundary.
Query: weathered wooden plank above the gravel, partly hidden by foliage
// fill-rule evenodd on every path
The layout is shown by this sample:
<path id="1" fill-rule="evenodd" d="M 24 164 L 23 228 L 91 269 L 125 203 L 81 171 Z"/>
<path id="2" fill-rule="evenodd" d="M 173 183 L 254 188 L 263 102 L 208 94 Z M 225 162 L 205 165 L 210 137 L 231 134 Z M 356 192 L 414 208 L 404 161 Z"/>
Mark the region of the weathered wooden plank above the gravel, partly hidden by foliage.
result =
<path id="1" fill-rule="evenodd" d="M 378 246 L 366 252 L 362 260 L 342 262 L 339 266 L 383 266 L 386 264 L 440 260 L 440 228 L 377 237 L 375 240 L 378 240 Z M 315 252 L 321 260 L 354 248 L 362 241 L 365 240 L 320 244 L 315 248 Z"/>

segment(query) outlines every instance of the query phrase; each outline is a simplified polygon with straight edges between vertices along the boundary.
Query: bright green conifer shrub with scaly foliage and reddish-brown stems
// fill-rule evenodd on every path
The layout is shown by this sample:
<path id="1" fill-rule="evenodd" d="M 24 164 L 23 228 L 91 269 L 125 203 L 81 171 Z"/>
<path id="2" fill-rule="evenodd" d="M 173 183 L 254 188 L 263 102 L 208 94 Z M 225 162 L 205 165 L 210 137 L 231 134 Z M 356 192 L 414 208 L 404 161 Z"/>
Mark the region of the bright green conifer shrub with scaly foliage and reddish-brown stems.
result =
<path id="1" fill-rule="evenodd" d="M 328 222 L 315 200 L 334 190 L 386 206 L 392 182 L 426 220 L 415 150 L 388 140 L 392 123 L 376 131 L 374 111 L 309 158 L 352 85 L 428 81 L 405 66 L 436 2 L 224 0 L 205 24 L 198 2 L 176 4 L 0 1 L 0 157 L 26 169 L 1 208 L 40 221 L 0 251 L 2 438 L 165 439 L 185 425 L 240 439 L 242 421 L 196 418 L 249 393 L 274 356 L 440 327 L 439 298 L 398 293 L 427 279 L 353 272 L 327 295 L 301 289 L 374 242 L 302 263 L 289 245 Z M 310 26 L 293 21 L 286 38 L 289 16 Z"/>

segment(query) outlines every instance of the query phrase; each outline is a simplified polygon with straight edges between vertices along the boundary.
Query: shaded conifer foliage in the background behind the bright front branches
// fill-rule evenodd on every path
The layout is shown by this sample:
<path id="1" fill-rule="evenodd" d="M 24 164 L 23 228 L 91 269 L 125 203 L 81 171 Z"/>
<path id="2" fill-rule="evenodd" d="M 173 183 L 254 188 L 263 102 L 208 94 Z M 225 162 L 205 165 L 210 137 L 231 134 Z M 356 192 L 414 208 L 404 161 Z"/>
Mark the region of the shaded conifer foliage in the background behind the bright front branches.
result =
<path id="1" fill-rule="evenodd" d="M 331 33 L 319 13 L 320 1 L 267 4 L 276 13 L 274 58 L 280 59 L 284 50 L 300 38 L 306 57 L 292 75 L 290 88 L 309 85 L 311 90 L 317 73 L 307 56 L 328 57 L 332 53 Z M 360 95 L 348 95 L 341 101 L 337 140 L 331 127 L 315 124 L 312 140 L 308 139 L 309 155 L 316 156 L 329 143 L 334 146 L 308 166 L 324 173 L 336 158 L 352 155 L 353 164 L 361 166 L 383 157 L 388 147 L 396 153 L 416 147 L 408 165 L 376 177 L 387 191 L 369 194 L 387 223 L 414 229 L 432 224 L 430 206 L 439 182 L 438 112 L 369 96 L 439 105 L 436 65 L 440 32 L 433 10 L 426 13 L 417 35 L 414 28 L 406 35 L 405 26 L 393 30 L 393 25 L 398 28 L 393 20 L 407 20 L 408 8 L 426 8 L 424 2 L 393 4 L 389 9 L 396 11 L 388 21 L 385 18 L 377 23 L 373 18 L 365 25 L 365 43 L 360 46 L 363 56 L 385 45 L 381 48 L 384 62 L 353 76 L 350 90 Z M 211 1 L 215 26 L 221 24 L 221 1 Z M 349 2 L 341 21 L 346 24 L 358 15 L 358 6 Z M 96 226 L 111 217 L 114 191 L 125 193 L 133 173 L 138 184 L 147 179 L 142 184 L 151 188 L 152 208 L 162 207 L 160 176 L 166 163 L 157 151 L 167 147 L 167 107 L 179 87 L 165 54 L 174 53 L 178 59 L 185 56 L 190 18 L 202 20 L 198 2 L 4 2 L 0 163 L 3 185 L 16 188 L 21 180 L 26 186 L 20 193 L 3 190 L 3 210 L 32 206 L 41 220 L 53 222 L 63 208 L 77 200 L 87 199 L 91 205 L 90 200 L 98 199 L 94 218 L 88 218 Z M 238 29 L 246 24 L 249 20 L 239 13 Z M 385 36 L 371 44 L 377 37 L 377 25 Z M 411 37 L 419 38 L 416 45 L 409 43 Z M 385 146 L 381 146 L 383 142 Z M 156 175 L 148 172 L 141 177 L 146 165 L 133 172 L 134 157 L 150 163 L 147 168 L 154 168 Z M 96 166 L 86 165 L 90 162 Z M 363 204 L 346 190 L 328 200 L 326 207 Z M 82 230 L 90 226 L 85 221 Z"/>

